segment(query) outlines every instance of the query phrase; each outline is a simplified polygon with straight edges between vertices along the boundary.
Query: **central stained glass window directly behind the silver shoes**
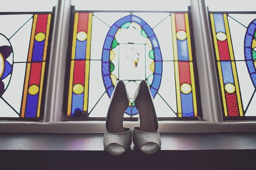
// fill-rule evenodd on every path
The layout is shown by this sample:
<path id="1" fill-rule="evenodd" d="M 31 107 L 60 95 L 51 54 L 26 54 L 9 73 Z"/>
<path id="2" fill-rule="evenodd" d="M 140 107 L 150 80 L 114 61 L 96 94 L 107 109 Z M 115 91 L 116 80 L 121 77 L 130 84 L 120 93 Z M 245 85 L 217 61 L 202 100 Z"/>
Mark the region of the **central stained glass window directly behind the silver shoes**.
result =
<path id="1" fill-rule="evenodd" d="M 72 23 L 64 104 L 67 117 L 104 118 L 119 79 L 130 94 L 125 117 L 138 117 L 133 95 L 142 79 L 148 82 L 158 118 L 198 117 L 189 11 L 73 9 Z"/>

